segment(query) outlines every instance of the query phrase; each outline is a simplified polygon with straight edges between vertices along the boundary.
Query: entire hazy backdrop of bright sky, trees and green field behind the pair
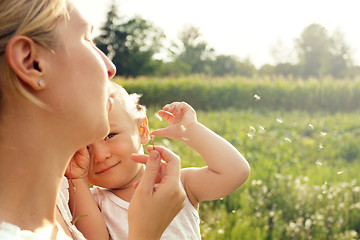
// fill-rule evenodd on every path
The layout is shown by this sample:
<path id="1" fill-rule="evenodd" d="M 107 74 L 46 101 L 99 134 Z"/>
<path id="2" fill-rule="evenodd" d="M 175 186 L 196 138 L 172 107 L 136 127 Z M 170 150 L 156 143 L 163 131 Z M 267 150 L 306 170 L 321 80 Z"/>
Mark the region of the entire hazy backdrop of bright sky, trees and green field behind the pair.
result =
<path id="1" fill-rule="evenodd" d="M 248 160 L 242 187 L 201 204 L 203 239 L 359 239 L 358 1 L 75 3 L 151 129 L 186 101 Z M 205 165 L 181 141 L 155 144 Z"/>

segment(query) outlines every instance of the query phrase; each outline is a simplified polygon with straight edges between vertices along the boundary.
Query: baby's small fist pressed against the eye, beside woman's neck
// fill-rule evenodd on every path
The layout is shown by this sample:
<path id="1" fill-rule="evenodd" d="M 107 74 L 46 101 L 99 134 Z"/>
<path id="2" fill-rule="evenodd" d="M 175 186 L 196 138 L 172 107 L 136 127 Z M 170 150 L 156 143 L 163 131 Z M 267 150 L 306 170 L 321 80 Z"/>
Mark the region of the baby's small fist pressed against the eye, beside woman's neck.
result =
<path id="1" fill-rule="evenodd" d="M 68 179 L 78 179 L 78 178 L 86 178 L 88 177 L 90 164 L 90 155 L 88 150 L 85 148 L 77 151 L 74 156 L 71 158 L 69 162 L 65 176 Z"/>

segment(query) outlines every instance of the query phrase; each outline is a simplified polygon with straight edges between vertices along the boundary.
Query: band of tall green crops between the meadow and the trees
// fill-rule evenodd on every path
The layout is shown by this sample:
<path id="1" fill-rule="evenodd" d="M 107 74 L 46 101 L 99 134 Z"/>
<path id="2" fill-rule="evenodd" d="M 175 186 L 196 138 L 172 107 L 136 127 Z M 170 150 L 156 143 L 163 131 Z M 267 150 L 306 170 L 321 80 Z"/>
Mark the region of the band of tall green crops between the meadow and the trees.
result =
<path id="1" fill-rule="evenodd" d="M 258 109 L 350 112 L 359 110 L 360 81 L 247 79 L 241 77 L 115 79 L 142 103 L 189 102 L 197 110 Z"/>

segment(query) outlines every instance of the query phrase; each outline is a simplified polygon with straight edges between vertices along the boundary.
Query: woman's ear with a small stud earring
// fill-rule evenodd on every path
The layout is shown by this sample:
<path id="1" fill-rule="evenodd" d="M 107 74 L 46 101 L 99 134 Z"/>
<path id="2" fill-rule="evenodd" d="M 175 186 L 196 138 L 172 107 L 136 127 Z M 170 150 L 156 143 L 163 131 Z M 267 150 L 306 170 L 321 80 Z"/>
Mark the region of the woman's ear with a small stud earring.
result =
<path id="1" fill-rule="evenodd" d="M 6 58 L 19 80 L 34 90 L 45 86 L 39 61 L 39 46 L 25 36 L 12 37 L 6 46 Z"/>

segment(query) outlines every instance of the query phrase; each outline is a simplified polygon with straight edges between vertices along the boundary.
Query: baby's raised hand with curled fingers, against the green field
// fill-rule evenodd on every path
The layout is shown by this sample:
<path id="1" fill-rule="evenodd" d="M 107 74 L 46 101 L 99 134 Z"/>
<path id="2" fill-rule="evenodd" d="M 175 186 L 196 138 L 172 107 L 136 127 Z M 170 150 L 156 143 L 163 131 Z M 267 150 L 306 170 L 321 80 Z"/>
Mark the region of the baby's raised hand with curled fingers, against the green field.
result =
<path id="1" fill-rule="evenodd" d="M 155 137 L 184 139 L 186 131 L 197 123 L 195 110 L 185 102 L 167 104 L 159 111 L 159 115 L 165 118 L 170 126 L 154 130 L 152 135 Z"/>

